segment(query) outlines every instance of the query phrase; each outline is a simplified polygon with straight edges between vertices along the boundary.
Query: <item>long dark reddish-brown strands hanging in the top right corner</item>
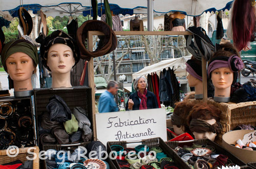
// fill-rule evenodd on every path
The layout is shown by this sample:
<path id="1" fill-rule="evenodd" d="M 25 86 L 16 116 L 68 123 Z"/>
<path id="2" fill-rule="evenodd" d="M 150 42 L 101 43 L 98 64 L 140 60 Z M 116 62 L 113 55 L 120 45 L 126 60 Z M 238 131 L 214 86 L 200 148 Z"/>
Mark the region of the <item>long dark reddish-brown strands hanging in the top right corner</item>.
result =
<path id="1" fill-rule="evenodd" d="M 254 39 L 255 9 L 250 0 L 235 0 L 232 7 L 233 42 L 238 50 L 247 49 L 247 43 Z"/>

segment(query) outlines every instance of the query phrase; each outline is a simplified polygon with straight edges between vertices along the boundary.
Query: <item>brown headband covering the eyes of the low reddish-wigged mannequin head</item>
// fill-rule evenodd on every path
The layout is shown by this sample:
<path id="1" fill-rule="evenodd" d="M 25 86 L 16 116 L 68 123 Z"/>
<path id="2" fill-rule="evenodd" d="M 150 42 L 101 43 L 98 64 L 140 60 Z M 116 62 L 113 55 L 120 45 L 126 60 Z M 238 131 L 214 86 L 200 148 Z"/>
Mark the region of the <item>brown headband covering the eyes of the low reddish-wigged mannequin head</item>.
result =
<path id="1" fill-rule="evenodd" d="M 198 133 L 204 133 L 204 132 L 218 133 L 221 131 L 222 125 L 220 122 L 216 122 L 215 124 L 210 125 L 204 120 L 192 119 L 189 124 L 189 129 L 191 132 L 198 132 Z"/>

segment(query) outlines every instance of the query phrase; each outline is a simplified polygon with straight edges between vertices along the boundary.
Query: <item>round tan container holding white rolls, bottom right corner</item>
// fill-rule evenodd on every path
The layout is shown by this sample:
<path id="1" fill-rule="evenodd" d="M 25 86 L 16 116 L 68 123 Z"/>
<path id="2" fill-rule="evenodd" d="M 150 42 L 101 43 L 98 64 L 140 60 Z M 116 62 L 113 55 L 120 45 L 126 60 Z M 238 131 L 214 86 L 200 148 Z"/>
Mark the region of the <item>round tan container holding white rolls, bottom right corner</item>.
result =
<path id="1" fill-rule="evenodd" d="M 253 130 L 234 130 L 225 133 L 222 136 L 222 146 L 229 152 L 240 158 L 245 163 L 256 161 L 256 151 L 244 150 L 234 147 L 230 144 L 236 145 L 238 139 L 243 139 L 244 135 L 252 132 Z"/>

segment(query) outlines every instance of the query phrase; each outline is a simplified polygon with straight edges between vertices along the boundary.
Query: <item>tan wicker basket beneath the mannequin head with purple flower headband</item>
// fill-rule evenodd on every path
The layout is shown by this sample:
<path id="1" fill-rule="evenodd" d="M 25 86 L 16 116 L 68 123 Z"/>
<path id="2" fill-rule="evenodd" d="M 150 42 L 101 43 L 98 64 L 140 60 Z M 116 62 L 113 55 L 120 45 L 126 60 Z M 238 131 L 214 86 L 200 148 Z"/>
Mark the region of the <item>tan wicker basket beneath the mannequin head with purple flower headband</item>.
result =
<path id="1" fill-rule="evenodd" d="M 195 103 L 200 103 L 202 100 L 190 99 Z M 256 126 L 256 101 L 243 102 L 243 103 L 219 103 L 213 99 L 207 100 L 208 104 L 212 104 L 221 110 L 220 123 L 222 130 L 215 139 L 219 145 L 222 144 L 222 135 L 226 132 L 233 130 L 240 124 Z"/>

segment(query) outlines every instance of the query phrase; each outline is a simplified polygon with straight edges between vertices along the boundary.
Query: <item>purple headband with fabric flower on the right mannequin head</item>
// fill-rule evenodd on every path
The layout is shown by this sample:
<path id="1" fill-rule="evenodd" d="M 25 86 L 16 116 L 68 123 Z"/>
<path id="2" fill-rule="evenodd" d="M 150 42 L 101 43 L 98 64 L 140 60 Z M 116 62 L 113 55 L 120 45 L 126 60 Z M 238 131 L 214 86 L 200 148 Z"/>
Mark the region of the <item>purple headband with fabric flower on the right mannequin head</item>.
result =
<path id="1" fill-rule="evenodd" d="M 238 72 L 244 67 L 243 61 L 237 55 L 231 57 L 217 57 L 214 61 L 209 63 L 208 75 L 218 68 L 228 67 L 232 72 Z"/>

